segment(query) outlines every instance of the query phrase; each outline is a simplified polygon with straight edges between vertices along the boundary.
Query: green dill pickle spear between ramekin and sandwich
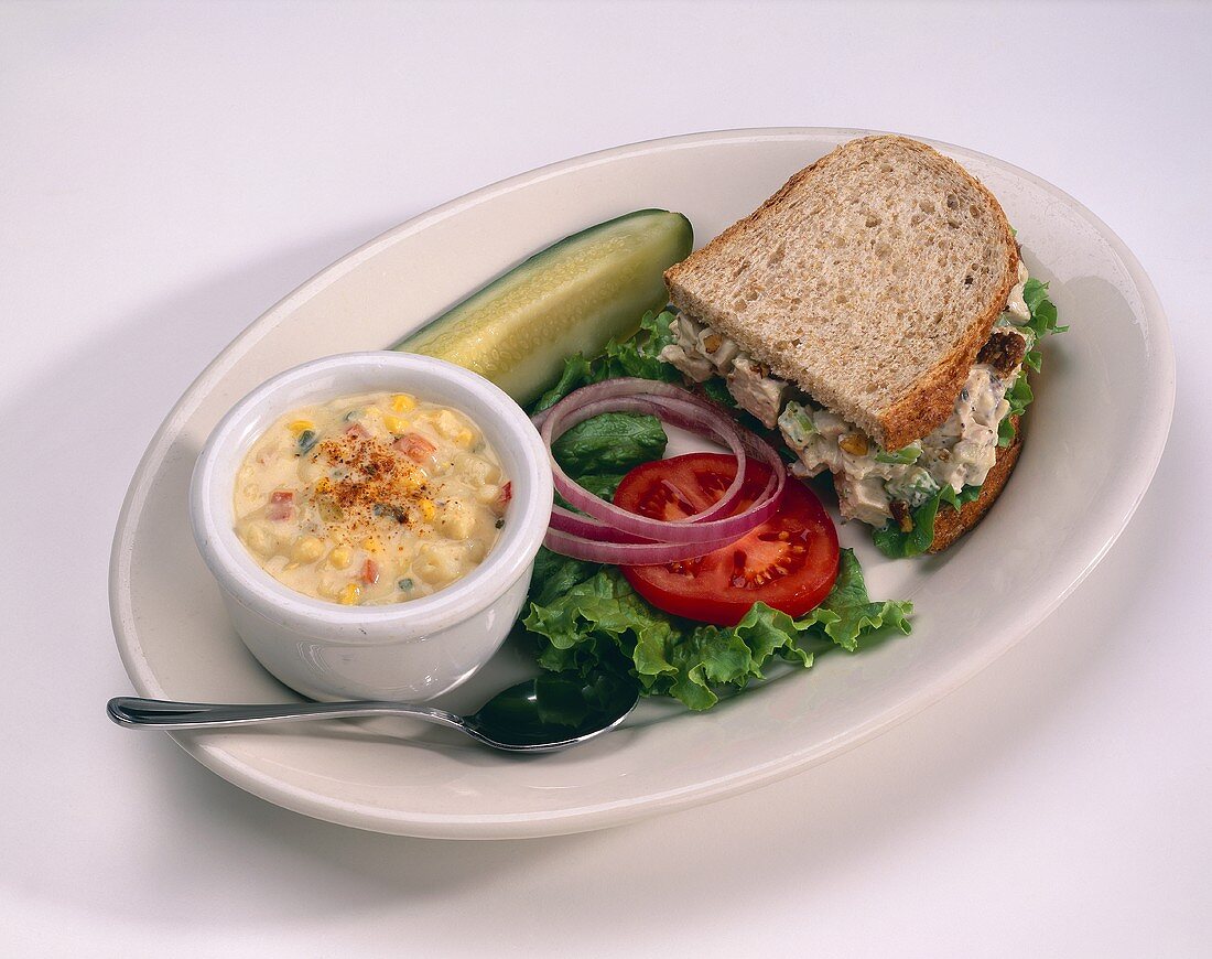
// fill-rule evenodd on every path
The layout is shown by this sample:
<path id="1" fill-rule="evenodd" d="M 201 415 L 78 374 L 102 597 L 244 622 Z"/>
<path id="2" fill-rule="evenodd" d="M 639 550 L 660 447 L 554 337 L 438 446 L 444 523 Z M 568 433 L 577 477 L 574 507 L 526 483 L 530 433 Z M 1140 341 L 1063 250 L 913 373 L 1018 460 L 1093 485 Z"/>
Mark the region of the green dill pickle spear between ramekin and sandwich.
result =
<path id="1" fill-rule="evenodd" d="M 665 306 L 663 274 L 692 245 L 690 221 L 667 210 L 599 223 L 536 253 L 393 349 L 463 366 L 526 406 L 559 379 L 568 356 L 596 355 Z"/>

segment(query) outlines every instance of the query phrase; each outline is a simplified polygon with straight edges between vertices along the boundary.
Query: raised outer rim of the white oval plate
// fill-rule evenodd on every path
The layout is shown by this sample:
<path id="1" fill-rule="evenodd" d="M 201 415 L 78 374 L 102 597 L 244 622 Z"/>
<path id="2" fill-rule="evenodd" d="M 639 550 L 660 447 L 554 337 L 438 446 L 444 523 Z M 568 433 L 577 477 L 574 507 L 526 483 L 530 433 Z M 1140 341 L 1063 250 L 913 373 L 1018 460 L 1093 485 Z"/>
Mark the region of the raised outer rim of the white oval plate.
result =
<path id="1" fill-rule="evenodd" d="M 124 497 L 110 552 L 109 604 L 119 653 L 127 675 L 139 695 L 162 697 L 165 692 L 147 658 L 142 655 L 142 644 L 137 639 L 133 610 L 128 603 L 130 592 L 126 587 L 130 583 L 130 560 L 133 532 L 137 525 L 132 523 L 132 518 L 137 518 L 142 513 L 148 492 L 150 491 L 152 480 L 162 464 L 172 439 L 179 433 L 182 422 L 193 413 L 193 410 L 200 398 L 205 395 L 207 388 L 228 372 L 262 336 L 278 325 L 280 314 L 288 313 L 296 304 L 310 299 L 322 289 L 336 282 L 364 261 L 375 256 L 382 247 L 398 242 L 404 236 L 427 229 L 442 219 L 457 215 L 464 209 L 480 205 L 498 195 L 561 176 L 573 170 L 608 164 L 622 156 L 641 156 L 647 153 L 676 150 L 685 147 L 702 147 L 715 143 L 818 139 L 822 137 L 845 139 L 881 132 L 884 131 L 827 126 L 715 130 L 638 141 L 547 164 L 471 190 L 410 217 L 339 257 L 270 306 L 206 365 L 173 404 L 172 409 L 165 416 L 164 422 L 153 434 L 143 456 L 139 458 L 126 496 Z M 339 800 L 333 797 L 320 795 L 319 793 L 293 787 L 273 776 L 262 774 L 256 767 L 227 752 L 222 746 L 222 737 L 218 742 L 210 742 L 205 737 L 195 737 L 191 733 L 173 733 L 172 738 L 194 759 L 233 784 L 275 805 L 314 818 L 375 832 L 430 838 L 518 839 L 555 835 L 624 824 L 676 809 L 715 801 L 791 776 L 827 759 L 841 755 L 863 742 L 886 732 L 909 717 L 930 707 L 943 696 L 959 689 L 964 683 L 967 683 L 995 660 L 1000 658 L 1008 649 L 1022 641 L 1102 561 L 1103 556 L 1107 555 L 1107 552 L 1127 527 L 1127 524 L 1131 521 L 1151 485 L 1168 439 L 1176 401 L 1176 358 L 1170 322 L 1156 289 L 1139 259 L 1124 240 L 1081 201 L 1030 171 L 989 154 L 930 137 L 919 137 L 908 133 L 903 136 L 911 136 L 914 139 L 928 143 L 944 153 L 961 158 L 968 156 L 1012 170 L 1044 192 L 1057 196 L 1065 205 L 1070 206 L 1096 229 L 1099 236 L 1108 244 L 1110 251 L 1119 258 L 1140 297 L 1143 316 L 1138 319 L 1144 321 L 1145 329 L 1151 335 L 1156 335 L 1154 361 L 1159 364 L 1160 376 L 1148 381 L 1151 389 L 1147 405 L 1150 405 L 1154 410 L 1150 422 L 1156 422 L 1157 428 L 1151 433 L 1153 441 L 1150 449 L 1147 451 L 1148 455 L 1136 459 L 1136 467 L 1131 476 L 1133 489 L 1127 508 L 1107 523 L 1107 536 L 1100 537 L 1103 540 L 1102 544 L 1062 590 L 1048 595 L 1042 603 L 1037 601 L 1024 607 L 1023 612 L 1027 615 L 1022 617 L 1017 628 L 1008 633 L 1008 639 L 989 646 L 982 656 L 966 657 L 956 663 L 954 668 L 942 672 L 932 683 L 917 690 L 916 695 L 905 697 L 899 703 L 851 727 L 840 741 L 829 741 L 818 743 L 814 748 L 793 750 L 777 760 L 771 760 L 759 766 L 749 766 L 714 781 L 682 786 L 661 793 L 650 793 L 639 799 L 627 798 L 559 811 L 470 815 L 387 811 L 359 803 Z"/>

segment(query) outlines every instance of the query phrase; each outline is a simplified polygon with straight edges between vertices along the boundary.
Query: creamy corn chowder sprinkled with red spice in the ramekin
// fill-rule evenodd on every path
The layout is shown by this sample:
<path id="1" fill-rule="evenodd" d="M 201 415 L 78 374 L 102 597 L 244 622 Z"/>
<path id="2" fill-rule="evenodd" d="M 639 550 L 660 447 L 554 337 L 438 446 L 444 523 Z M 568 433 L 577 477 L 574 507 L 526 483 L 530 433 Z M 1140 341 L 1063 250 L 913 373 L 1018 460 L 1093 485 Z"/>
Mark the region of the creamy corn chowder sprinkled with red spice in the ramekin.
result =
<path id="1" fill-rule="evenodd" d="M 474 570 L 509 498 L 497 455 L 465 415 L 375 393 L 278 419 L 240 467 L 235 531 L 299 593 L 404 603 Z"/>

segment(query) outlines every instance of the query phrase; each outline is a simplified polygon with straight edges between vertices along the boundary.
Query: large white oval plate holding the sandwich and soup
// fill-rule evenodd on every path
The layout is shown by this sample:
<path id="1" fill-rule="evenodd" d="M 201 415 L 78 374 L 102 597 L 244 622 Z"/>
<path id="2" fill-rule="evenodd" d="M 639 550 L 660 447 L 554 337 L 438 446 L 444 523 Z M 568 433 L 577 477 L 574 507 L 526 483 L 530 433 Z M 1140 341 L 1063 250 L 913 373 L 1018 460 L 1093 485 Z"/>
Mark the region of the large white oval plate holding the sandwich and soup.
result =
<path id="1" fill-rule="evenodd" d="M 543 167 L 424 213 L 275 306 L 187 390 L 156 433 L 118 523 L 114 630 L 141 695 L 296 698 L 230 630 L 189 535 L 185 492 L 211 428 L 290 366 L 382 348 L 531 252 L 641 207 L 686 213 L 699 242 L 859 130 L 745 130 L 621 147 Z M 1046 343 L 1014 476 L 984 523 L 941 558 L 887 561 L 857 527 L 875 598 L 916 604 L 911 637 L 831 653 L 705 714 L 645 703 L 616 733 L 554 755 L 494 754 L 406 723 L 191 733 L 200 763 L 271 803 L 405 835 L 571 833 L 705 803 L 787 776 L 898 723 L 990 663 L 1093 569 L 1161 457 L 1174 359 L 1153 285 L 1097 217 L 1037 177 L 936 143 L 983 179 L 1050 280 L 1071 331 Z M 526 669 L 498 655 L 456 708 Z"/>

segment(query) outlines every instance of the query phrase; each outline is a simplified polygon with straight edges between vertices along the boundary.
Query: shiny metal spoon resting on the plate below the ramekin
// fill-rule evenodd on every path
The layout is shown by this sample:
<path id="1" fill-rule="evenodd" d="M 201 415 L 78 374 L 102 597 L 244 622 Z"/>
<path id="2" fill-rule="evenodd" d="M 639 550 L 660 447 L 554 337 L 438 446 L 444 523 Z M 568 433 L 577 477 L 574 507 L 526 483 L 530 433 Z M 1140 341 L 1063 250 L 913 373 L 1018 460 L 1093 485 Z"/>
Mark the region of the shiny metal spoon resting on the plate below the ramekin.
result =
<path id="1" fill-rule="evenodd" d="M 468 717 L 377 700 L 335 703 L 224 706 L 119 696 L 105 707 L 109 718 L 131 729 L 199 730 L 288 723 L 302 719 L 402 715 L 465 732 L 473 740 L 511 753 L 544 753 L 576 746 L 614 729 L 639 701 L 634 683 L 602 675 L 594 680 L 551 674 L 527 679 L 498 692 Z"/>

